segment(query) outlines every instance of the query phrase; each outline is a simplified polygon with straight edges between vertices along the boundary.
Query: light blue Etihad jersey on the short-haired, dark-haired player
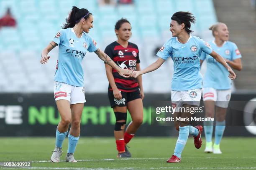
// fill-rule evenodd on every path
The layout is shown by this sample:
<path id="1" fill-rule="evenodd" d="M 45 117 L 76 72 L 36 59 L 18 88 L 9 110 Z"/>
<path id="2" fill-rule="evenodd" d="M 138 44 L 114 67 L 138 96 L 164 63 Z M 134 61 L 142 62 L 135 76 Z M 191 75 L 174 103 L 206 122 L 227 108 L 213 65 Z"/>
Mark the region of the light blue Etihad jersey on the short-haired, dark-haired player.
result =
<path id="1" fill-rule="evenodd" d="M 166 60 L 172 57 L 174 74 L 172 90 L 187 91 L 202 88 L 202 75 L 200 73 L 201 52 L 210 54 L 212 48 L 202 39 L 189 36 L 187 43 L 182 44 L 177 37 L 172 37 L 157 52 L 157 56 Z"/>

